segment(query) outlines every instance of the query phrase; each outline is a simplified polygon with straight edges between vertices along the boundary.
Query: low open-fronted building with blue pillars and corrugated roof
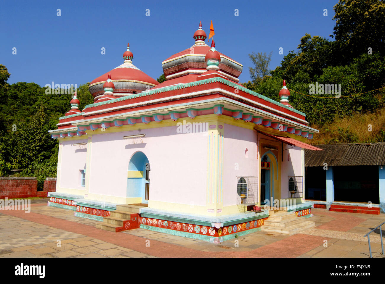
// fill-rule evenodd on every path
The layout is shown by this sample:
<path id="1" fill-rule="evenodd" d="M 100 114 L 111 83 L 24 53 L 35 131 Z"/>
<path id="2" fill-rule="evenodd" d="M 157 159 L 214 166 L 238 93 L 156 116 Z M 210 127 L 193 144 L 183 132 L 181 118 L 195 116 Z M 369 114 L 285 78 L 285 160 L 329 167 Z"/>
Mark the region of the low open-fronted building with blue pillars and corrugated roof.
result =
<path id="1" fill-rule="evenodd" d="M 385 210 L 385 143 L 317 145 L 305 150 L 305 199 L 331 211 Z"/>

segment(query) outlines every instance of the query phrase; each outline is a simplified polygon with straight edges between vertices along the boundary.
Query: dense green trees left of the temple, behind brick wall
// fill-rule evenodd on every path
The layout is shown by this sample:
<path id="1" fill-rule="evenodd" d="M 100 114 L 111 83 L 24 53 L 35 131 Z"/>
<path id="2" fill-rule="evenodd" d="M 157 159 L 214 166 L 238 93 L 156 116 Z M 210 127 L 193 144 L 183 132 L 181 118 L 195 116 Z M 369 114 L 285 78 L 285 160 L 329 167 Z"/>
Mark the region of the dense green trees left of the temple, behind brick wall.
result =
<path id="1" fill-rule="evenodd" d="M 72 95 L 46 94 L 46 88 L 35 83 L 7 84 L 7 68 L 0 65 L 4 82 L 0 87 L 0 176 L 13 174 L 35 176 L 41 189 L 46 177 L 55 177 L 58 142 L 48 130 L 55 129 L 59 117 L 70 109 Z M 80 85 L 77 97 L 80 107 L 92 104 L 89 83 Z"/>

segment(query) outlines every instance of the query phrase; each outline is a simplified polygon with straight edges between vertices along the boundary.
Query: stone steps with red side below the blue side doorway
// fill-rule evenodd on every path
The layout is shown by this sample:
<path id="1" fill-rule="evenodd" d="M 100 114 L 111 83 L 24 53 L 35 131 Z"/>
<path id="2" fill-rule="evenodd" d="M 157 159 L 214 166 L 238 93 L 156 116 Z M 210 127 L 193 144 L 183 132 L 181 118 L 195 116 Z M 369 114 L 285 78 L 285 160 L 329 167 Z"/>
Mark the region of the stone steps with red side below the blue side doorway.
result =
<path id="1" fill-rule="evenodd" d="M 139 213 L 143 206 L 132 204 L 116 205 L 110 216 L 103 217 L 103 222 L 97 222 L 96 228 L 110 232 L 121 232 L 139 227 Z"/>

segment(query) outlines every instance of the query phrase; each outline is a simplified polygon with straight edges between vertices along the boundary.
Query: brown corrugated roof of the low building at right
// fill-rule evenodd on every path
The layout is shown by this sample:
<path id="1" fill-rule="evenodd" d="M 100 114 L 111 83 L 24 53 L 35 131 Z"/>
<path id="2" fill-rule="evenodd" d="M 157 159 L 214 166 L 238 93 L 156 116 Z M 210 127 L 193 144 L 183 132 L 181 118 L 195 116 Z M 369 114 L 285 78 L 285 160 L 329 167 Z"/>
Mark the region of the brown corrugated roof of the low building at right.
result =
<path id="1" fill-rule="evenodd" d="M 305 167 L 338 165 L 385 165 L 385 142 L 316 145 L 323 151 L 305 149 Z"/>

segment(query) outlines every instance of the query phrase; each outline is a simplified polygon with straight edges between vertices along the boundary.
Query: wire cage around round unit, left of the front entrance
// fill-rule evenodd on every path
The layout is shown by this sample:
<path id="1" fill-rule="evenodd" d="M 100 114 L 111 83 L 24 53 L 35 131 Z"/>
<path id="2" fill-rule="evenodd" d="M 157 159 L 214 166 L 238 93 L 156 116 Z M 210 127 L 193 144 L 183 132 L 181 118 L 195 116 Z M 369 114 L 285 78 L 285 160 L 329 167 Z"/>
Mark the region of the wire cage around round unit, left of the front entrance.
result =
<path id="1" fill-rule="evenodd" d="M 237 177 L 237 205 L 241 212 L 258 203 L 258 177 Z"/>

